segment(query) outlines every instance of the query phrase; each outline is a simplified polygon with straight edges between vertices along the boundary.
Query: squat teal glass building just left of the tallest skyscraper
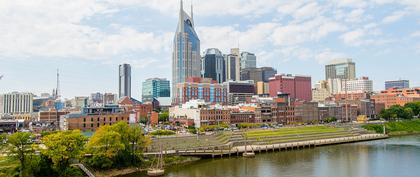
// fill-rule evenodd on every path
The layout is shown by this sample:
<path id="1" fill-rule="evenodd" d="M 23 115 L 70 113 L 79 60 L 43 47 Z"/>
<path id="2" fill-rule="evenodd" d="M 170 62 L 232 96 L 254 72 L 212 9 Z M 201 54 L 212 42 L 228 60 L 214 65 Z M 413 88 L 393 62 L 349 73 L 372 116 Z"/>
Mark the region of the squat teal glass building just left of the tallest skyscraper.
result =
<path id="1" fill-rule="evenodd" d="M 142 84 L 142 101 L 153 101 L 153 98 L 170 97 L 169 80 L 165 78 L 150 78 Z"/>

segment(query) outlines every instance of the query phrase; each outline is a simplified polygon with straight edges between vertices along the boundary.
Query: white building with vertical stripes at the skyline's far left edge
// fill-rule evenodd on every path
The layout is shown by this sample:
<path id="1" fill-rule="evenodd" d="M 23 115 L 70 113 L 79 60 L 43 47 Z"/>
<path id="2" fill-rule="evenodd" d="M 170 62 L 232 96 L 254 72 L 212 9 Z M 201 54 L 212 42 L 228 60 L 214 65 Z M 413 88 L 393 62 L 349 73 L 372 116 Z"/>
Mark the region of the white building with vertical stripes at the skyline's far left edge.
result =
<path id="1" fill-rule="evenodd" d="M 12 92 L 0 96 L 0 114 L 27 114 L 33 112 L 33 94 Z"/>

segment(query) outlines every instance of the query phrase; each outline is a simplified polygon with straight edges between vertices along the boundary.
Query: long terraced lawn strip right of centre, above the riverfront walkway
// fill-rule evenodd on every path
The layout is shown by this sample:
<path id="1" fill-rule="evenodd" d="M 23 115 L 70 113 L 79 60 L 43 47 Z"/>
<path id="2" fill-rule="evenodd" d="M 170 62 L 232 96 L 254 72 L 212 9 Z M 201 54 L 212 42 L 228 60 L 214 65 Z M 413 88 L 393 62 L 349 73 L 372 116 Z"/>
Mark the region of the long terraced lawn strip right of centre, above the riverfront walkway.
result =
<path id="1" fill-rule="evenodd" d="M 335 133 L 344 131 L 343 128 L 333 128 L 326 126 L 310 126 L 310 127 L 293 127 L 293 128 L 280 128 L 276 130 L 254 130 L 245 133 L 247 138 L 267 138 L 278 136 L 291 136 L 291 135 L 305 135 L 317 133 Z"/>

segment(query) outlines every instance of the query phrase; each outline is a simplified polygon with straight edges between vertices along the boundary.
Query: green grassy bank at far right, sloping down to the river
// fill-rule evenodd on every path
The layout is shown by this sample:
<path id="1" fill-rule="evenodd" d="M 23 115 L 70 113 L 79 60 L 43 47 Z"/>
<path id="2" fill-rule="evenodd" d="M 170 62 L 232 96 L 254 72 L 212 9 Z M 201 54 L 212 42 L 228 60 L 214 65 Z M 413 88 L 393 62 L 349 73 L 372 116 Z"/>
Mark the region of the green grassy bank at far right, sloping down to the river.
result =
<path id="1" fill-rule="evenodd" d="M 363 128 L 376 133 L 383 133 L 383 124 L 366 124 Z M 386 132 L 391 135 L 420 134 L 420 120 L 408 120 L 400 122 L 386 122 Z"/>

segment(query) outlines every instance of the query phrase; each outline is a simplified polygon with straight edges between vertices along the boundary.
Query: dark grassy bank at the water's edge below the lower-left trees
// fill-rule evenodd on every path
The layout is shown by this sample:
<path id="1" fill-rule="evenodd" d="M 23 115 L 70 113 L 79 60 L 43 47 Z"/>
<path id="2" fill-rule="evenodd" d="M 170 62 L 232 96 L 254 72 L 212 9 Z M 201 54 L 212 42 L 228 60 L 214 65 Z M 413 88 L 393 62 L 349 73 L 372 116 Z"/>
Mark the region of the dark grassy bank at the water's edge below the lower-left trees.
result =
<path id="1" fill-rule="evenodd" d="M 183 166 L 188 165 L 192 162 L 199 161 L 201 158 L 199 157 L 183 157 L 183 156 L 167 156 L 165 157 L 165 166 L 166 167 L 173 167 L 173 166 Z M 139 167 L 125 167 L 125 168 L 118 168 L 118 169 L 109 169 L 109 170 L 94 170 L 94 174 L 96 177 L 117 177 L 127 174 L 139 173 L 146 171 L 150 166 L 150 159 L 149 161 L 145 161 L 143 165 Z"/>

